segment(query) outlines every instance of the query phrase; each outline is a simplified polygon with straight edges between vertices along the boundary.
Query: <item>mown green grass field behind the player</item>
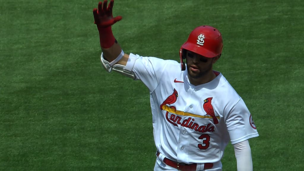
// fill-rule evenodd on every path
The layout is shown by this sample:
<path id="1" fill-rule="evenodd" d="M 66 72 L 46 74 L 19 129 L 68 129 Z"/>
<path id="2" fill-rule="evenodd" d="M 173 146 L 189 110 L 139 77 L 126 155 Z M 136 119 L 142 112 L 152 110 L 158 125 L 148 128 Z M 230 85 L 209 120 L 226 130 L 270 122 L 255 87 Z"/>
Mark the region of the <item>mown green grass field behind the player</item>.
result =
<path id="1" fill-rule="evenodd" d="M 149 91 L 108 74 L 98 1 L 0 0 L 0 170 L 153 170 Z M 116 0 L 126 53 L 179 60 L 200 25 L 223 35 L 223 73 L 253 114 L 254 170 L 302 171 L 304 1 Z M 236 170 L 233 147 L 223 170 Z"/>

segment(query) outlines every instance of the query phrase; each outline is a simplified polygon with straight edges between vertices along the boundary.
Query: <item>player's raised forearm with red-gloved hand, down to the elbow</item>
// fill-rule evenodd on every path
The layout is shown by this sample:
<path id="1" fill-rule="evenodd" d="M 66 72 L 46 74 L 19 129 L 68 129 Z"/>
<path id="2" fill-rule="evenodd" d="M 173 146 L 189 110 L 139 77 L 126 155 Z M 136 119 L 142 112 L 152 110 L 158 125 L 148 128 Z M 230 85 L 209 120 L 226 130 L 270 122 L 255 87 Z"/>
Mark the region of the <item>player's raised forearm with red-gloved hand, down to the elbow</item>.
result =
<path id="1" fill-rule="evenodd" d="M 112 9 L 114 0 L 111 0 L 108 6 L 107 4 L 108 1 L 104 0 L 103 3 L 98 3 L 98 9 L 93 9 L 94 23 L 96 24 L 99 32 L 100 47 L 103 52 L 103 58 L 109 62 L 110 67 L 115 64 L 125 66 L 129 55 L 123 53 L 122 48 L 117 43 L 117 40 L 114 38 L 112 33 L 112 25 L 120 21 L 122 16 L 113 17 Z"/>

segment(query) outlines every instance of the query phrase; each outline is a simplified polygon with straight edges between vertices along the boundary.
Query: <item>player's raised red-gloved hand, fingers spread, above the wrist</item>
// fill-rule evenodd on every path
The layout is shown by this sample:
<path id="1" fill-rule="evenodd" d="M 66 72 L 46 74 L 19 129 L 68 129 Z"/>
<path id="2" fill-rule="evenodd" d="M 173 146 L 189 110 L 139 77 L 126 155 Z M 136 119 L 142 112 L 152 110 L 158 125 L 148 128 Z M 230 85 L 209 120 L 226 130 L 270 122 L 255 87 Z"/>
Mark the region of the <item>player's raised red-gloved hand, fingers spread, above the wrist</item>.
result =
<path id="1" fill-rule="evenodd" d="M 108 1 L 104 0 L 103 3 L 98 3 L 98 9 L 93 9 L 94 23 L 97 25 L 98 28 L 112 26 L 117 21 L 120 21 L 123 18 L 122 16 L 113 17 L 112 9 L 114 5 L 114 0 L 110 1 L 108 7 L 107 4 Z"/>

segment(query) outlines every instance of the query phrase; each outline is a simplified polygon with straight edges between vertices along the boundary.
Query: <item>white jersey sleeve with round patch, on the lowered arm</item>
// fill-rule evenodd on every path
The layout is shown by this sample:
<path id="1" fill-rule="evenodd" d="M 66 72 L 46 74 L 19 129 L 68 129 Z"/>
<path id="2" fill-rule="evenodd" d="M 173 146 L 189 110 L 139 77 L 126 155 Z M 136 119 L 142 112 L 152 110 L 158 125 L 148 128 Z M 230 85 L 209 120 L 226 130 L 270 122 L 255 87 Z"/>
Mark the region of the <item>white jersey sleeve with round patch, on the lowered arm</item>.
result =
<path id="1" fill-rule="evenodd" d="M 243 99 L 240 99 L 228 113 L 226 126 L 231 144 L 259 136 L 252 116 Z"/>

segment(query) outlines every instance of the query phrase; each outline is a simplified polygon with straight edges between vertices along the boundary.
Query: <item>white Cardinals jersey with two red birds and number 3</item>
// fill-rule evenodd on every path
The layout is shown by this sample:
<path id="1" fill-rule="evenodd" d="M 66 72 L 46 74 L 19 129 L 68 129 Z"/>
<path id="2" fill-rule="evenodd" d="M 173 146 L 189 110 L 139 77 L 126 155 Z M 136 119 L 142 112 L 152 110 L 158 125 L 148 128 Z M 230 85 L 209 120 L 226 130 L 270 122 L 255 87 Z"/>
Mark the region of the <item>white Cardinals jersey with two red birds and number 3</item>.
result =
<path id="1" fill-rule="evenodd" d="M 220 162 L 229 141 L 258 136 L 243 99 L 221 73 L 214 71 L 215 79 L 194 86 L 177 61 L 132 53 L 125 69 L 150 90 L 154 141 L 167 158 Z"/>

